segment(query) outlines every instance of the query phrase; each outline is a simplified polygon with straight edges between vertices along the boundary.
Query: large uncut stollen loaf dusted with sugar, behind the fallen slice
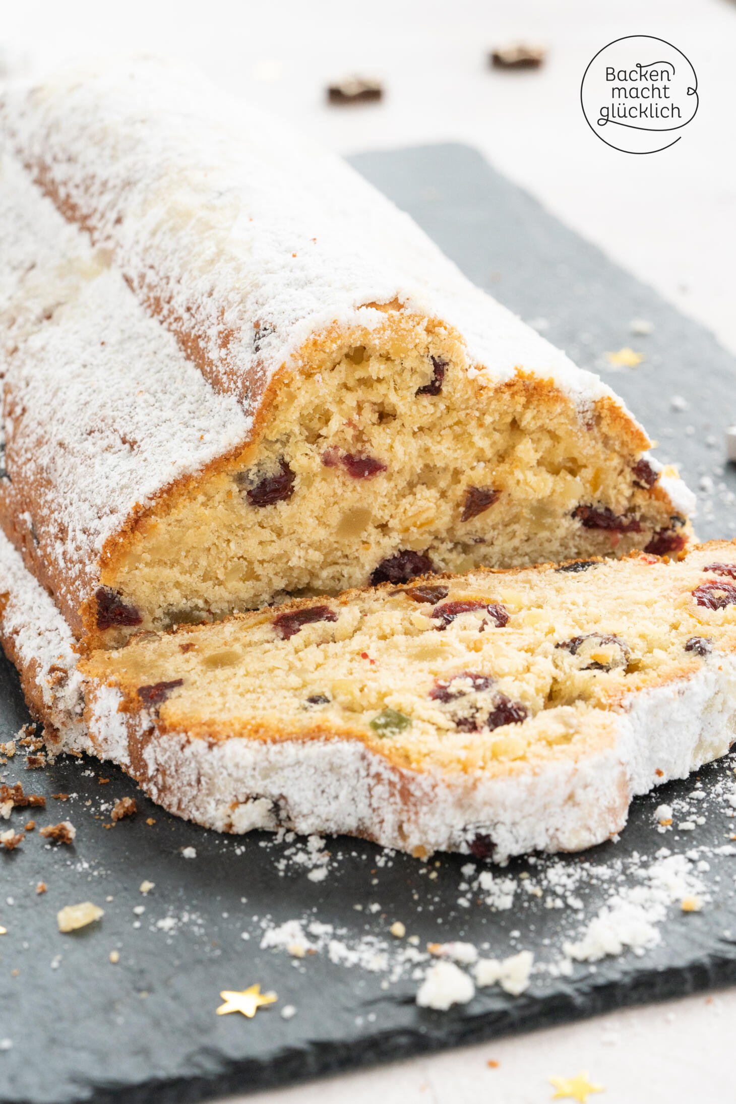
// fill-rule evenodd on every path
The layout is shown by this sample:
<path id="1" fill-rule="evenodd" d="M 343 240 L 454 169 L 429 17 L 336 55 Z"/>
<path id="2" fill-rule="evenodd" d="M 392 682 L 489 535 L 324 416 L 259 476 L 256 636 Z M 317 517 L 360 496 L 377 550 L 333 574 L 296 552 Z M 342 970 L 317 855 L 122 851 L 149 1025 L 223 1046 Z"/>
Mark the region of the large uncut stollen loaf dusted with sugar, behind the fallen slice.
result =
<path id="1" fill-rule="evenodd" d="M 76 637 L 682 551 L 597 376 L 346 164 L 153 62 L 0 104 L 0 520 Z"/>

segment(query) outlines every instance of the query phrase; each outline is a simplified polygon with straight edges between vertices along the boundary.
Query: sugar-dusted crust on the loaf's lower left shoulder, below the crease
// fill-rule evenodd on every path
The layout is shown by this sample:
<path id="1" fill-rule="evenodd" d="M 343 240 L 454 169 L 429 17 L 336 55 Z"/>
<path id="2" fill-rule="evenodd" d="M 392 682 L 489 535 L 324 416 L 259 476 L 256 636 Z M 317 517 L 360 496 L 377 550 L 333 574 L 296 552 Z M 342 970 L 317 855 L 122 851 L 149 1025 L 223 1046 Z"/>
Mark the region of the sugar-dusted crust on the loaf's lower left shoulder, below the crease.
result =
<path id="1" fill-rule="evenodd" d="M 33 540 L 78 604 L 131 511 L 247 440 L 252 420 L 8 156 L 0 253 L 6 466 L 34 488 Z M 23 527 L 13 484 L 0 493 Z"/>

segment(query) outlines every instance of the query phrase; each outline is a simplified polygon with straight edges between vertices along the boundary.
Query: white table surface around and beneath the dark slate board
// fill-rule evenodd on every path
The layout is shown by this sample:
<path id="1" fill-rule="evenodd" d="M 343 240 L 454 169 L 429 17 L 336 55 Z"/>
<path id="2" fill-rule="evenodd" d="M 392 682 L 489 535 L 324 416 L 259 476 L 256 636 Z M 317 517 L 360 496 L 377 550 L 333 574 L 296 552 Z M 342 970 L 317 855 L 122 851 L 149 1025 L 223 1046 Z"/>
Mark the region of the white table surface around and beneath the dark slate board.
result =
<path id="1" fill-rule="evenodd" d="M 587 63 L 627 34 L 666 39 L 698 77 L 700 108 L 682 141 L 649 157 L 598 141 L 579 107 Z M 488 47 L 516 38 L 545 43 L 545 66 L 489 71 Z M 43 70 L 113 51 L 188 59 L 341 152 L 469 142 L 736 352 L 736 4 L 729 0 L 2 4 L 0 62 L 11 67 Z M 384 103 L 328 107 L 324 85 L 351 72 L 382 77 Z M 541 1104 L 552 1096 L 551 1074 L 588 1070 L 606 1086 L 590 1097 L 601 1104 L 733 1104 L 735 1017 L 736 990 L 727 990 L 247 1101 Z M 499 1066 L 489 1068 L 489 1059 Z"/>

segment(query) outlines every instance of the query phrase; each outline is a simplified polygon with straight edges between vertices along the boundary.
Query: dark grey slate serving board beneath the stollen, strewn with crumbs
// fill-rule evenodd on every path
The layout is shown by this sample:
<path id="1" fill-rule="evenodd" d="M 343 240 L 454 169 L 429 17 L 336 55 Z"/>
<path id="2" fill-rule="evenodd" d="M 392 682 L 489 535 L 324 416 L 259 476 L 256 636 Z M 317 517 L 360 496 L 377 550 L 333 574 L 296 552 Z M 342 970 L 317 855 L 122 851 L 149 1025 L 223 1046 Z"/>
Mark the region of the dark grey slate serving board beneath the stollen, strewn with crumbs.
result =
<path id="1" fill-rule="evenodd" d="M 626 344 L 644 352 L 639 368 L 611 375 L 611 382 L 662 443 L 662 459 L 678 457 L 693 485 L 703 475 L 714 479 L 700 535 L 730 535 L 736 511 L 728 496 L 736 478 L 721 468 L 736 364 L 706 330 L 562 226 L 471 149 L 433 146 L 367 153 L 353 162 L 471 279 L 526 320 L 540 327 L 546 321 L 546 336 L 579 363 L 596 368 L 607 350 Z M 649 320 L 651 336 L 632 337 L 633 318 Z M 673 393 L 686 400 L 687 410 L 671 410 Z M 0 703 L 4 741 L 28 720 L 15 672 L 4 660 Z M 708 767 L 701 773 L 705 788 L 723 785 L 732 771 L 728 760 Z M 292 860 L 279 869 L 279 860 L 288 859 L 286 842 L 221 837 L 175 820 L 140 796 L 134 819 L 105 829 L 108 813 L 100 804 L 134 787 L 97 763 L 60 760 L 26 772 L 18 755 L 1 774 L 46 794 L 49 809 L 36 816 L 39 825 L 68 817 L 77 828 L 74 848 L 46 847 L 36 831 L 14 852 L 0 854 L 0 924 L 8 928 L 0 938 L 2 1102 L 195 1101 L 736 981 L 736 937 L 729 935 L 736 906 L 728 889 L 736 859 L 727 854 L 711 859 L 708 907 L 696 915 L 673 910 L 661 944 L 642 957 L 609 957 L 595 972 L 582 964 L 570 977 L 534 975 L 521 997 L 491 988 L 469 1005 L 434 1012 L 416 1007 L 418 983 L 410 972 L 387 981 L 385 973 L 348 968 L 326 953 L 295 960 L 262 949 L 263 919 L 281 923 L 309 914 L 341 930 L 344 944 L 374 934 L 390 945 L 387 927 L 401 920 L 419 936 L 419 947 L 461 938 L 486 942 L 489 954 L 503 956 L 554 945 L 563 930 L 572 931 L 570 917 L 537 898 L 501 912 L 474 900 L 461 907 L 461 857 L 441 857 L 429 881 L 426 868 L 405 856 L 386 862 L 369 843 L 328 841 L 333 860 L 328 877 L 314 882 Z M 100 784 L 99 777 L 110 781 Z M 621 840 L 587 858 L 605 864 L 631 863 L 637 851 L 651 856 L 663 841 L 652 829 L 653 808 L 691 789 L 690 782 L 672 784 L 637 800 Z M 51 798 L 57 792 L 76 796 L 61 803 Z M 25 819 L 14 813 L 11 822 Z M 666 842 L 715 848 L 727 835 L 721 810 L 686 840 L 670 834 Z M 182 856 L 186 847 L 195 848 L 195 859 Z M 579 859 L 562 861 L 572 870 Z M 526 869 L 518 861 L 505 873 L 518 878 Z M 147 896 L 139 892 L 143 879 L 156 883 Z M 41 895 L 39 881 L 47 884 Z M 600 904 L 599 888 L 594 880 L 580 892 L 589 917 Z M 104 906 L 102 923 L 58 934 L 56 910 L 84 900 Z M 134 907 L 141 904 L 139 915 Z M 117 965 L 109 962 L 114 948 Z M 215 1016 L 221 989 L 256 981 L 277 991 L 276 1006 L 248 1021 Z M 287 1004 L 297 1009 L 291 1019 L 279 1015 Z"/>

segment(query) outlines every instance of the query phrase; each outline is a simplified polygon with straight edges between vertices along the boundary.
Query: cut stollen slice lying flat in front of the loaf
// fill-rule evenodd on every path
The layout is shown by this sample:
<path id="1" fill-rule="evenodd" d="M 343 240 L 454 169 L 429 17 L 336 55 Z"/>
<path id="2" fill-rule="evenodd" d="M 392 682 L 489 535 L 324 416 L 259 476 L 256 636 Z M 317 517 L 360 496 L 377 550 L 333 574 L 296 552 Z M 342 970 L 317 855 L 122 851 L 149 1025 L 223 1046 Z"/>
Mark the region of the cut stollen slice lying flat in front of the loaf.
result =
<path id="1" fill-rule="evenodd" d="M 504 858 L 610 837 L 735 739 L 736 543 L 426 576 L 79 664 L 90 746 L 227 831 Z"/>

